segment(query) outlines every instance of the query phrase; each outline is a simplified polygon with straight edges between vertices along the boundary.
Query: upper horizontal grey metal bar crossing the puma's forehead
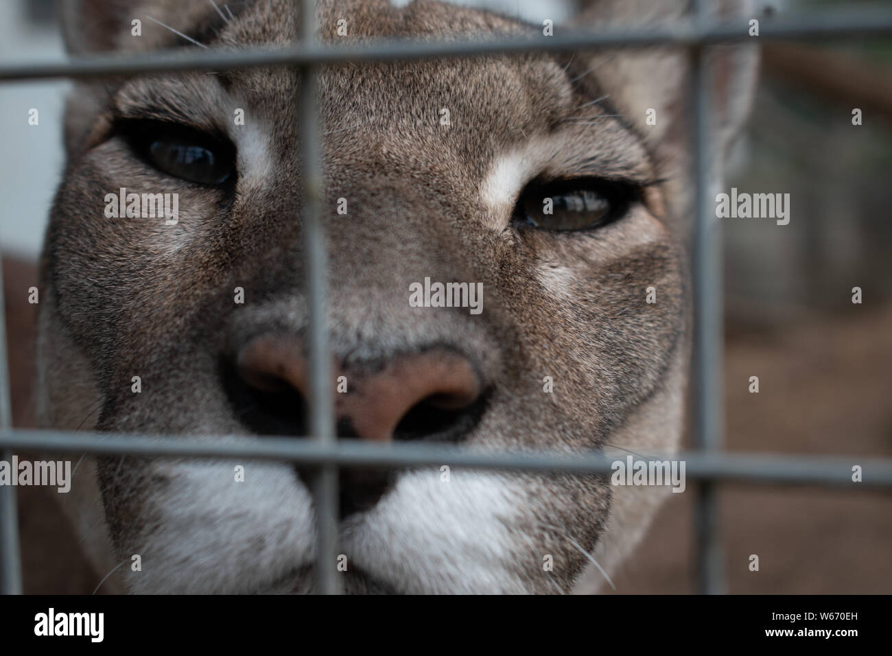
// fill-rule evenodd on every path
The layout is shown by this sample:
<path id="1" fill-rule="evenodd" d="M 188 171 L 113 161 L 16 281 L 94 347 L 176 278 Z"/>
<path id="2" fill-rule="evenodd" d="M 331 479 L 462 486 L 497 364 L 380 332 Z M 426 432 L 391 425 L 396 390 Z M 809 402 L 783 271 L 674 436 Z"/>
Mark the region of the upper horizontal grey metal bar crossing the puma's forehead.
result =
<path id="1" fill-rule="evenodd" d="M 350 46 L 297 45 L 281 49 L 222 52 L 180 49 L 153 54 L 106 54 L 66 62 L 21 62 L 0 65 L 0 81 L 71 78 L 89 79 L 162 71 L 229 71 L 274 65 L 308 66 L 343 62 L 384 62 L 518 54 L 534 51 L 565 52 L 604 47 L 696 46 L 725 41 L 872 37 L 892 34 L 892 12 L 821 12 L 762 21 L 758 37 L 750 37 L 747 21 L 704 23 L 678 21 L 658 29 L 621 29 L 599 33 L 568 33 L 554 37 L 501 38 L 488 41 L 382 40 Z"/>

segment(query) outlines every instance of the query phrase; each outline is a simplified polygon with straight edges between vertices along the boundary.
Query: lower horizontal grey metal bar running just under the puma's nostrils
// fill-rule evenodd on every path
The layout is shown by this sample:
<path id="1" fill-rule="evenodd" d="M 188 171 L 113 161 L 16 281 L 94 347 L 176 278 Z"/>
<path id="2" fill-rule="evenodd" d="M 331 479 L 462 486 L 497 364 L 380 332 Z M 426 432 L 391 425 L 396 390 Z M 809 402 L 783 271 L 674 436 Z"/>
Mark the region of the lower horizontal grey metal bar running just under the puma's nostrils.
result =
<path id="1" fill-rule="evenodd" d="M 214 440 L 213 442 L 209 440 Z M 491 452 L 457 444 L 369 444 L 339 440 L 320 444 L 302 437 L 260 439 L 229 437 L 161 437 L 118 433 L 8 430 L 0 432 L 0 449 L 46 453 L 91 453 L 139 457 L 236 458 L 293 461 L 308 466 L 396 469 L 449 465 L 472 469 L 514 469 L 568 474 L 609 474 L 625 455 L 596 452 Z M 685 462 L 685 476 L 747 483 L 846 486 L 851 489 L 892 486 L 892 459 L 817 457 L 774 453 L 676 453 L 641 455 L 636 459 Z M 852 482 L 859 465 L 863 482 Z"/>

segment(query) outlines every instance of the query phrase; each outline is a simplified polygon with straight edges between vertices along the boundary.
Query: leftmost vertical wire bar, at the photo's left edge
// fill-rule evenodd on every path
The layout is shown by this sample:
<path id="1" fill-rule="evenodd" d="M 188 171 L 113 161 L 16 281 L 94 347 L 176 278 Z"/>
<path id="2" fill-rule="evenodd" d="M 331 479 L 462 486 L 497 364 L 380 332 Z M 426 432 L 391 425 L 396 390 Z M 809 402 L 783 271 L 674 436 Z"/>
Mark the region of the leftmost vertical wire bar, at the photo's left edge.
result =
<path id="1" fill-rule="evenodd" d="M 0 258 L 0 429 L 4 430 L 12 426 L 9 360 L 6 357 L 5 307 L 3 258 Z M 12 451 L 0 451 L 0 460 L 12 461 Z M 3 592 L 3 594 L 21 594 L 19 513 L 13 486 L 0 486 L 0 592 Z"/>

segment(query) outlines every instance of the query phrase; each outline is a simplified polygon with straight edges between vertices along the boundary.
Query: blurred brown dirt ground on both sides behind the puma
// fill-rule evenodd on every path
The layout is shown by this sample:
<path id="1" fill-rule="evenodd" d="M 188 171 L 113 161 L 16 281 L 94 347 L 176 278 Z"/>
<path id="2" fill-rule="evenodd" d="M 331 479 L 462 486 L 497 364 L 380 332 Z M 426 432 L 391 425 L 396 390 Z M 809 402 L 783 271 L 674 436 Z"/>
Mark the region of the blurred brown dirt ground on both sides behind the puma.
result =
<path id="1" fill-rule="evenodd" d="M 4 260 L 13 421 L 33 426 L 32 266 Z M 727 448 L 892 456 L 892 306 L 728 336 Z M 760 393 L 749 394 L 758 376 Z M 692 490 L 693 487 L 689 486 Z M 84 560 L 53 493 L 20 487 L 24 587 L 90 594 L 103 573 Z M 692 593 L 693 494 L 671 494 L 640 548 L 613 577 L 618 594 Z M 817 487 L 721 488 L 731 593 L 892 593 L 892 494 Z M 757 572 L 748 558 L 760 559 Z M 102 590 L 100 590 L 102 592 Z"/>

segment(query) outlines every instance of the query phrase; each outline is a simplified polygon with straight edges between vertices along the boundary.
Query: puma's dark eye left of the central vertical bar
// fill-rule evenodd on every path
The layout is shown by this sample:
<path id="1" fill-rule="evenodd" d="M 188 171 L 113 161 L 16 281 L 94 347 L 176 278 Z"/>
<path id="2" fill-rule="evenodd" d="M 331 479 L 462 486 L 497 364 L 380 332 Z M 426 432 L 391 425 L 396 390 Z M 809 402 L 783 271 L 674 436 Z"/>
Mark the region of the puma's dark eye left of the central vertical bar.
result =
<path id="1" fill-rule="evenodd" d="M 128 125 L 124 133 L 137 156 L 169 176 L 218 187 L 235 172 L 235 147 L 199 130 L 150 123 Z"/>

